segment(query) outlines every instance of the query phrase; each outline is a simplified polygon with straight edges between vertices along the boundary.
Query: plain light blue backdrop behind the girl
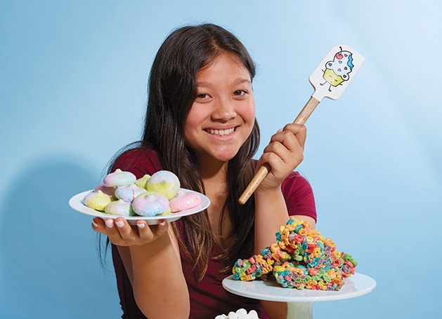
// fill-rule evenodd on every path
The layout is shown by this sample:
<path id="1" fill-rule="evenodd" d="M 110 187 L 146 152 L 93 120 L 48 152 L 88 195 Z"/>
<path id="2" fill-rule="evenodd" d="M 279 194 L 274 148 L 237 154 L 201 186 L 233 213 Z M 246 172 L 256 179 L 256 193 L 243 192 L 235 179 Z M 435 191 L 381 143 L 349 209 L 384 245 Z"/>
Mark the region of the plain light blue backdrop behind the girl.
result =
<path id="1" fill-rule="evenodd" d="M 299 171 L 317 228 L 377 287 L 313 313 L 440 318 L 441 12 L 436 0 L 1 1 L 0 318 L 121 315 L 110 258 L 103 269 L 91 218 L 67 201 L 140 137 L 157 48 L 194 22 L 233 31 L 259 67 L 259 154 L 330 48 L 365 56 L 307 121 Z"/>

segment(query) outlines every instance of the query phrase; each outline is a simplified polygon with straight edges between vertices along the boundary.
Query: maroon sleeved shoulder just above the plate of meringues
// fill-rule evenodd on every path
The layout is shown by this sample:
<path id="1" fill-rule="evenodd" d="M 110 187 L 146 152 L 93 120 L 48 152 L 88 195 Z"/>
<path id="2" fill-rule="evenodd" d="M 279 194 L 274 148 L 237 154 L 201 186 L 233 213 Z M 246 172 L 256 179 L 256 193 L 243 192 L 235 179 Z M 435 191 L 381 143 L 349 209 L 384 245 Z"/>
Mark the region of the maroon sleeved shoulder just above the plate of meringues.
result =
<path id="1" fill-rule="evenodd" d="M 136 178 L 152 175 L 162 170 L 160 157 L 152 147 L 136 147 L 120 154 L 112 165 L 111 171 L 117 168 L 134 173 Z"/>

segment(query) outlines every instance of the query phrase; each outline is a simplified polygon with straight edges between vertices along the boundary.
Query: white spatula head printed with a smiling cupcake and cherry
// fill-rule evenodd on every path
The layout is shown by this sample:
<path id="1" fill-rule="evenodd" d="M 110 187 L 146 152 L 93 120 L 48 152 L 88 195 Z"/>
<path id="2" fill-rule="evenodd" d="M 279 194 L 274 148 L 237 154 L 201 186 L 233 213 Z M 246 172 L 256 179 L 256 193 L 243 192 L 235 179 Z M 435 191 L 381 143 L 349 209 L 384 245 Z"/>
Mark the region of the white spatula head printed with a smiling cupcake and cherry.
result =
<path id="1" fill-rule="evenodd" d="M 312 72 L 310 81 L 319 102 L 324 97 L 337 100 L 349 85 L 365 57 L 349 46 L 335 46 Z"/>

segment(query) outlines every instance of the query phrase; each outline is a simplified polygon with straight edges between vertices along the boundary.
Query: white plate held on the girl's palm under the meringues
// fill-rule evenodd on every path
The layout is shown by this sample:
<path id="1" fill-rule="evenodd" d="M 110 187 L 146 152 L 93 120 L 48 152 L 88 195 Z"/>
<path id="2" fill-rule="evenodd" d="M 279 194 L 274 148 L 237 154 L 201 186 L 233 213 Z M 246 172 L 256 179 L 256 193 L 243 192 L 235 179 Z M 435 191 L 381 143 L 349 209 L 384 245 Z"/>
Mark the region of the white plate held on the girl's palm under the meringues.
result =
<path id="1" fill-rule="evenodd" d="M 203 194 L 200 194 L 197 191 L 190 191 L 189 189 L 182 189 L 182 190 L 186 193 L 198 194 L 201 198 L 200 205 L 197 205 L 194 208 L 190 208 L 188 210 L 181 210 L 180 212 L 171 212 L 171 214 L 166 215 L 166 216 L 159 215 L 159 216 L 152 216 L 152 217 L 146 217 L 146 216 L 122 216 L 122 217 L 124 219 L 126 219 L 127 222 L 129 222 L 129 224 L 131 224 L 131 225 L 135 225 L 137 220 L 145 220 L 149 225 L 156 225 L 156 224 L 158 224 L 159 219 L 166 219 L 168 222 L 174 222 L 174 220 L 176 220 L 176 219 L 180 219 L 183 216 L 196 214 L 197 212 L 202 212 L 202 210 L 205 210 L 206 208 L 209 207 L 210 200 L 209 200 L 209 198 L 207 198 L 207 196 L 204 196 Z M 94 210 L 94 209 L 89 208 L 86 205 L 84 205 L 84 203 L 83 203 L 84 196 L 86 196 L 87 194 L 89 194 L 91 192 L 92 192 L 92 190 L 91 191 L 84 191 L 80 194 L 73 196 L 69 200 L 70 207 L 73 208 L 74 210 L 77 210 L 78 212 L 82 212 L 83 214 L 91 215 L 93 217 L 100 217 L 101 219 L 108 219 L 108 218 L 115 219 L 117 217 L 120 217 L 117 215 L 106 214 L 105 212 L 100 212 L 98 210 Z"/>

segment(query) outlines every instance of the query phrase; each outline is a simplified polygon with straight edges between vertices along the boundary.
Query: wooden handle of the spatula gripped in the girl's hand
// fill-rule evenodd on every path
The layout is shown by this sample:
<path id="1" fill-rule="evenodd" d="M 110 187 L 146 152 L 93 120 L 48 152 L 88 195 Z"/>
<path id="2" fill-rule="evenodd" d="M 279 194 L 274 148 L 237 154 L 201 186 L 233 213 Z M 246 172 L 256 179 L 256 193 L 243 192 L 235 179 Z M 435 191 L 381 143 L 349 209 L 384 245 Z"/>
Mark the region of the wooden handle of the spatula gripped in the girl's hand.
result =
<path id="1" fill-rule="evenodd" d="M 319 101 L 316 100 L 316 98 L 314 98 L 313 96 L 310 97 L 310 100 L 308 100 L 304 108 L 301 109 L 301 112 L 299 112 L 299 115 L 297 116 L 297 118 L 294 120 L 293 123 L 297 124 L 306 123 L 308 117 L 313 113 L 313 111 L 316 109 L 318 104 Z M 261 184 L 264 178 L 266 178 L 270 170 L 271 167 L 270 165 L 268 165 L 268 163 L 264 163 L 264 165 L 262 165 L 261 168 L 259 168 L 258 172 L 255 173 L 254 177 L 252 178 L 252 181 L 249 182 L 249 185 L 247 186 L 245 191 L 242 192 L 242 195 L 238 200 L 238 202 L 241 205 L 244 205 L 249 200 L 250 196 L 252 196 L 252 194 L 258 188 L 259 184 Z"/>

